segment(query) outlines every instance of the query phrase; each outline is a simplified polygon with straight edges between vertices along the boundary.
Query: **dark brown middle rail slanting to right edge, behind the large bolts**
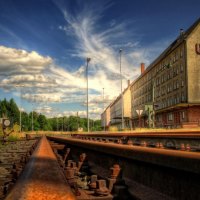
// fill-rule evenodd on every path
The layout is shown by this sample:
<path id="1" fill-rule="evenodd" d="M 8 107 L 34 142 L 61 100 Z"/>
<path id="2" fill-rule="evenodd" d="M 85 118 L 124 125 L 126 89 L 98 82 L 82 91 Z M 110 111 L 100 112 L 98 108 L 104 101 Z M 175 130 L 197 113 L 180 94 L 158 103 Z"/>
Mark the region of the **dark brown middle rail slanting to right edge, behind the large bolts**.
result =
<path id="1" fill-rule="evenodd" d="M 109 142 L 104 143 L 63 137 L 48 136 L 48 139 L 89 149 L 90 151 L 99 152 L 99 154 L 106 153 L 125 159 L 138 160 L 200 174 L 200 154 L 196 152 L 149 148 Z"/>

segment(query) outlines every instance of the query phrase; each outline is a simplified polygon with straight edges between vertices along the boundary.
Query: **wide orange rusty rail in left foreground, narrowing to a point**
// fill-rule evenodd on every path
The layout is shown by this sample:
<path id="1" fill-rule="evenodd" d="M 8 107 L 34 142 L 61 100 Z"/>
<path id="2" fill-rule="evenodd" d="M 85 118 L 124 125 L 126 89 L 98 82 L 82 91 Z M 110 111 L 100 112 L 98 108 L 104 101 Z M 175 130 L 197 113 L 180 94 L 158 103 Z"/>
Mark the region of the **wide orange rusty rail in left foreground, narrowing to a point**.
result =
<path id="1" fill-rule="evenodd" d="M 43 137 L 5 200 L 74 200 L 57 159 Z"/>

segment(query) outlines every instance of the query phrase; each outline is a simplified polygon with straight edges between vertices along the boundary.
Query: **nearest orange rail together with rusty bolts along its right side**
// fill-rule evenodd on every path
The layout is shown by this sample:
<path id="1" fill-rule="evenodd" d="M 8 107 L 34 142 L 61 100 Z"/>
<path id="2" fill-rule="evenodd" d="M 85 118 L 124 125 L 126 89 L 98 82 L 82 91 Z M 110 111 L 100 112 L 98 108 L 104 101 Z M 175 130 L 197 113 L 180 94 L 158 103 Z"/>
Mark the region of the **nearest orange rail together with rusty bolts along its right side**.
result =
<path id="1" fill-rule="evenodd" d="M 112 200 L 106 180 L 88 174 L 86 155 L 76 162 L 69 153 L 66 145 L 42 137 L 5 200 Z"/>

